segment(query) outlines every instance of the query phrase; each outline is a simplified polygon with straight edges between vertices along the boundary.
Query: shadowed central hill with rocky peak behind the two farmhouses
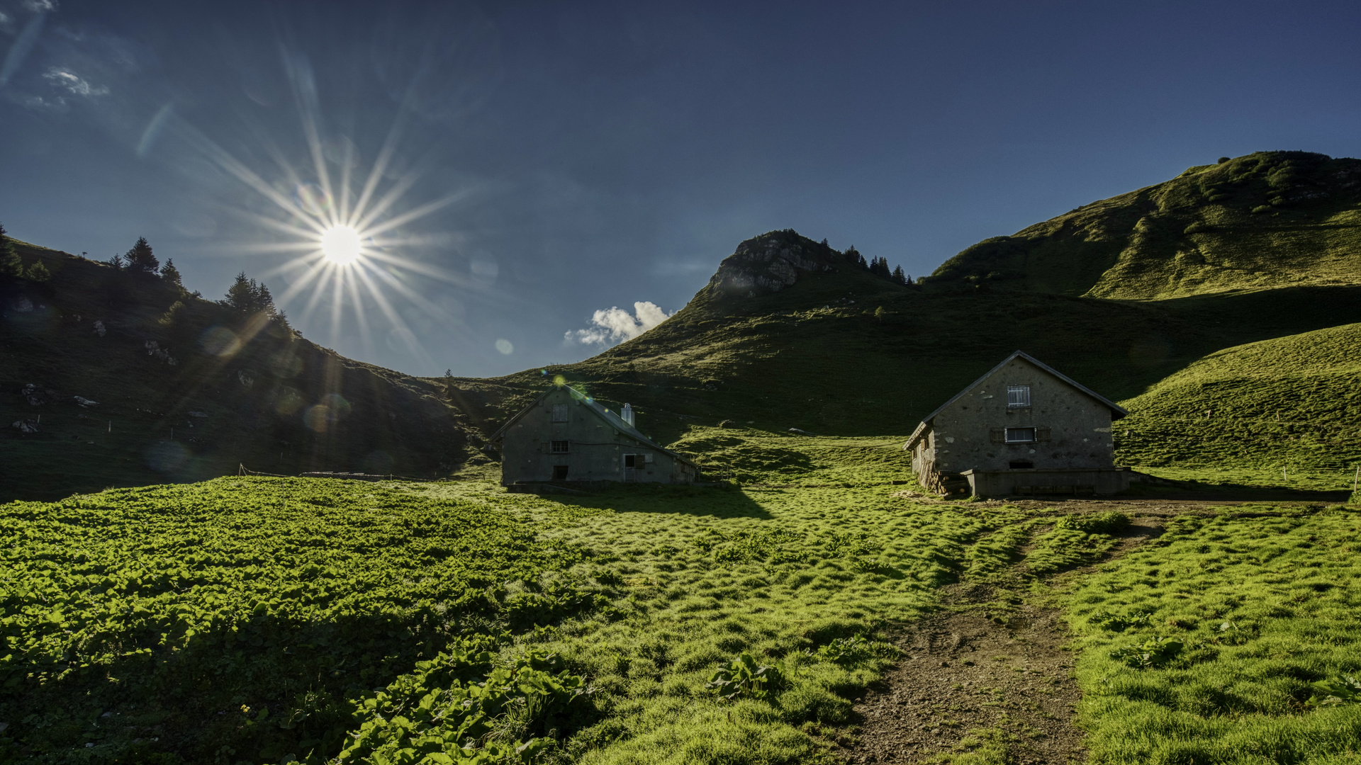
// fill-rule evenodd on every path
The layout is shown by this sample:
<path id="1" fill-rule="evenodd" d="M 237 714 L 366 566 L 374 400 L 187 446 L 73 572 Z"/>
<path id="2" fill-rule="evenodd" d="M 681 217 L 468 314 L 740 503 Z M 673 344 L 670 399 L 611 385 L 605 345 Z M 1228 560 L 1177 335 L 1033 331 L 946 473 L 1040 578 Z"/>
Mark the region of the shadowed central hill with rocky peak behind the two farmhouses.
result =
<path id="1" fill-rule="evenodd" d="M 667 441 L 721 419 L 886 436 L 909 433 L 1017 348 L 1128 399 L 1214 351 L 1361 321 L 1358 284 L 1161 301 L 917 290 L 834 256 L 807 256 L 819 248 L 792 231 L 749 240 L 689 305 L 640 338 L 580 363 L 456 384 L 489 421 L 562 374 L 600 399 L 632 403 L 640 426 Z M 806 268 L 778 290 L 753 289 L 777 259 L 751 253 L 772 250 L 789 250 L 785 263 L 802 259 Z"/>

